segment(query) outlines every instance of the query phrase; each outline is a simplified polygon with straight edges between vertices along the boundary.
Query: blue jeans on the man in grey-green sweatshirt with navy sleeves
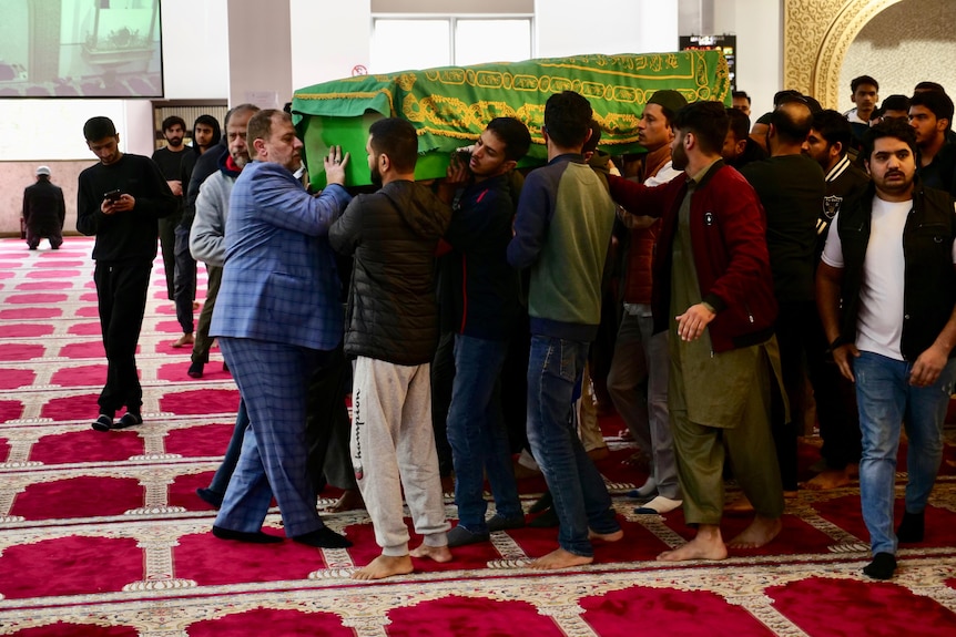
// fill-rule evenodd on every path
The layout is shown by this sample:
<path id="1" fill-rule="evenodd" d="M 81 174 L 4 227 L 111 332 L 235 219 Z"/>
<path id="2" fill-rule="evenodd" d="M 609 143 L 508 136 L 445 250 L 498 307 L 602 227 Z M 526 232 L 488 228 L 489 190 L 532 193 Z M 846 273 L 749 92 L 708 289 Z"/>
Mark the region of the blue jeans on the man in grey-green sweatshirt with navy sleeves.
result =
<path id="1" fill-rule="evenodd" d="M 621 526 L 611 496 L 588 458 L 572 418 L 574 384 L 581 380 L 588 343 L 531 336 L 528 361 L 528 442 L 551 491 L 565 551 L 591 557 L 588 530 L 609 534 Z"/>

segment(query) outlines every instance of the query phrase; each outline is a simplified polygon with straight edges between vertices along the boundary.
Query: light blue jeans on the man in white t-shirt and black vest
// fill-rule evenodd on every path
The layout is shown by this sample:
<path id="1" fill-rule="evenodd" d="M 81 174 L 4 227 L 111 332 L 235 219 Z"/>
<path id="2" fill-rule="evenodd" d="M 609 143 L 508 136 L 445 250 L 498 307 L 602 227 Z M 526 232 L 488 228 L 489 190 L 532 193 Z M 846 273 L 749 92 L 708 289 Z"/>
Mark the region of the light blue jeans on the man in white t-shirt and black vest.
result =
<path id="1" fill-rule="evenodd" d="M 950 360 L 929 387 L 909 384 L 911 361 L 868 351 L 853 362 L 863 458 L 860 497 L 873 554 L 896 553 L 893 531 L 894 481 L 899 427 L 906 423 L 906 511 L 922 513 L 943 458 L 943 421 L 953 391 L 956 361 Z"/>

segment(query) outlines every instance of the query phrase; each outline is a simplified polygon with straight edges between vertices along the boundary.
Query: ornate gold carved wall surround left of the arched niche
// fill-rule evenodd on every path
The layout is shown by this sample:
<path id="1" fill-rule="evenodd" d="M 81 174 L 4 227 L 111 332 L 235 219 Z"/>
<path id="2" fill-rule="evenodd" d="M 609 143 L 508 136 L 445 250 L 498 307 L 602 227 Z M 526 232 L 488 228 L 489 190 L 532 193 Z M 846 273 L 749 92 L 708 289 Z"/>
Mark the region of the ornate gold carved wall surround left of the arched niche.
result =
<path id="1" fill-rule="evenodd" d="M 846 50 L 874 16 L 901 0 L 784 0 L 783 83 L 835 109 Z"/>

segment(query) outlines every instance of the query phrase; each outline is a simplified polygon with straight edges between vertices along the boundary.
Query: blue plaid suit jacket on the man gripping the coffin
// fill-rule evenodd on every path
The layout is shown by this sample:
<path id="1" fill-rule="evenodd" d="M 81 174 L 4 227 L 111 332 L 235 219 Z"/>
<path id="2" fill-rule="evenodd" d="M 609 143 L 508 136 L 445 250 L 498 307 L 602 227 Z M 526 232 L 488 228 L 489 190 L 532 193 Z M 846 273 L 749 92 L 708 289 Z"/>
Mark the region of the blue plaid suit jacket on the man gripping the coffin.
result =
<path id="1" fill-rule="evenodd" d="M 313 197 L 281 164 L 247 165 L 230 197 L 210 336 L 335 348 L 343 315 L 327 234 L 350 199 L 338 185 Z"/>

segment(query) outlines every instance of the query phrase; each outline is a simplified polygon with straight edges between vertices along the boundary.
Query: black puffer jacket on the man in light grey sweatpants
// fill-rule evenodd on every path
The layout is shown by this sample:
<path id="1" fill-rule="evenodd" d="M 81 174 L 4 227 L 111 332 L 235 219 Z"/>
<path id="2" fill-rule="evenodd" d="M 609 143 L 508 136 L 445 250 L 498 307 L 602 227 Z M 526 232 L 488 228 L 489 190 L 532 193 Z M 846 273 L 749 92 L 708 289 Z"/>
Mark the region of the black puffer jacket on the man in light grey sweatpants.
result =
<path id="1" fill-rule="evenodd" d="M 451 209 L 431 191 L 398 181 L 355 197 L 328 230 L 354 254 L 345 352 L 396 364 L 430 362 L 438 341 L 435 249 Z"/>

